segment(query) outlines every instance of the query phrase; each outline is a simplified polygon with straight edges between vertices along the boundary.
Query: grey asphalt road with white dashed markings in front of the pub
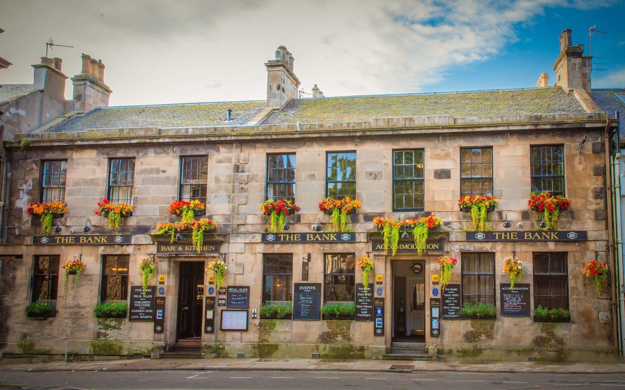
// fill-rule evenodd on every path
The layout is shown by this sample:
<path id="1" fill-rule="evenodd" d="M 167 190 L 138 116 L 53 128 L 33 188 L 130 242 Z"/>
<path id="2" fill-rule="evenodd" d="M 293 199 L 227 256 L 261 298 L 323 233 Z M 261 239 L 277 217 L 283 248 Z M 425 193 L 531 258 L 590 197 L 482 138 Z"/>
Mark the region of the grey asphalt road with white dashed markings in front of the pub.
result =
<path id="1" fill-rule="evenodd" d="M 625 374 L 363 371 L 0 372 L 0 388 L 151 389 L 625 389 Z M 8 384 L 16 384 L 11 387 Z"/>

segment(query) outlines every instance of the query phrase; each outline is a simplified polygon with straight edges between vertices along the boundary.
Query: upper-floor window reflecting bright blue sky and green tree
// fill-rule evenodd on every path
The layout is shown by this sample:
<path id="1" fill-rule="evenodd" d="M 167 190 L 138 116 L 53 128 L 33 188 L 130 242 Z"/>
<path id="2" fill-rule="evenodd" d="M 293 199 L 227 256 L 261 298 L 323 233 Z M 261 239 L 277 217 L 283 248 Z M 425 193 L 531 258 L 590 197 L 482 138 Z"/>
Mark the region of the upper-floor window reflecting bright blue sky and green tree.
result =
<path id="1" fill-rule="evenodd" d="M 356 197 L 356 152 L 327 154 L 326 196 Z"/>

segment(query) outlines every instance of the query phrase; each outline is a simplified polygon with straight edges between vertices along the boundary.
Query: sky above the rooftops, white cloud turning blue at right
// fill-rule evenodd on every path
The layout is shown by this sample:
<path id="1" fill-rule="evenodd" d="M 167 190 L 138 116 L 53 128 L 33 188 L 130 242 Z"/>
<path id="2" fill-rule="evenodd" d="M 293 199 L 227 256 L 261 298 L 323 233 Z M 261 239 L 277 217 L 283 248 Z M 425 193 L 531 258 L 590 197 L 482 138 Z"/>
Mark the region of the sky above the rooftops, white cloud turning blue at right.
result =
<path id="1" fill-rule="evenodd" d="M 0 0 L 0 83 L 32 83 L 44 43 L 63 72 L 102 59 L 111 105 L 266 98 L 264 63 L 285 45 L 300 88 L 326 96 L 526 88 L 552 66 L 564 28 L 607 63 L 592 85 L 625 87 L 625 1 Z M 71 98 L 71 82 L 66 98 Z"/>

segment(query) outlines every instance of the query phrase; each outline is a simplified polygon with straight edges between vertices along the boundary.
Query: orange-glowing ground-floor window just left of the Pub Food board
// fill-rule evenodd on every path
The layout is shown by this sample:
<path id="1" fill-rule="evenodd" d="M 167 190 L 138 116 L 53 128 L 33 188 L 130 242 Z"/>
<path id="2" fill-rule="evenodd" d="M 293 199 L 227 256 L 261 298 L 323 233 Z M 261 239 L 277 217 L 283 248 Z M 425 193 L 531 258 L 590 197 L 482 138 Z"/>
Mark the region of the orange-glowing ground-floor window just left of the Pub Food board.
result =
<path id="1" fill-rule="evenodd" d="M 102 264 L 102 301 L 126 301 L 128 299 L 128 268 L 130 256 L 105 255 Z"/>

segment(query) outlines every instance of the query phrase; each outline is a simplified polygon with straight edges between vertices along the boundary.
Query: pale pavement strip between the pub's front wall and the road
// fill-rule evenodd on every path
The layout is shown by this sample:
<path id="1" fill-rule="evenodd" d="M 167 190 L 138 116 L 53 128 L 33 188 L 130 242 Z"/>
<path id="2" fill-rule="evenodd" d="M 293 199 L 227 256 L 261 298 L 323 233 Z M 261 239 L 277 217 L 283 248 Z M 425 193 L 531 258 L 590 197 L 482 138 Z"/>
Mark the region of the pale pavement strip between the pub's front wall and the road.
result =
<path id="1" fill-rule="evenodd" d="M 168 370 L 271 370 L 271 371 L 464 371 L 464 372 L 554 372 L 625 373 L 625 364 L 544 362 L 431 362 L 336 359 L 139 359 L 94 362 L 47 362 L 2 364 L 0 371 L 168 371 Z"/>

